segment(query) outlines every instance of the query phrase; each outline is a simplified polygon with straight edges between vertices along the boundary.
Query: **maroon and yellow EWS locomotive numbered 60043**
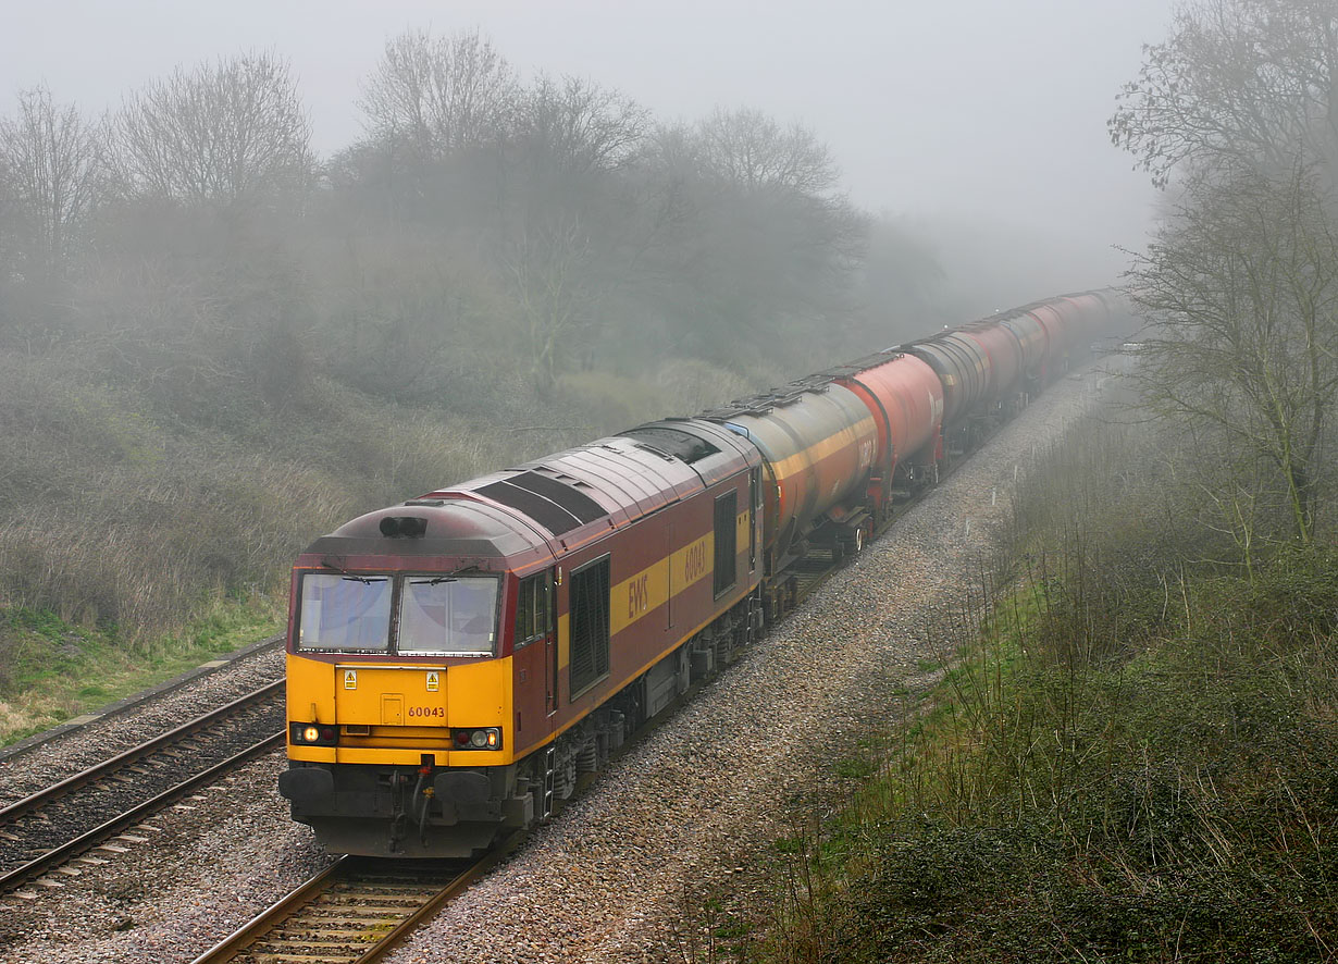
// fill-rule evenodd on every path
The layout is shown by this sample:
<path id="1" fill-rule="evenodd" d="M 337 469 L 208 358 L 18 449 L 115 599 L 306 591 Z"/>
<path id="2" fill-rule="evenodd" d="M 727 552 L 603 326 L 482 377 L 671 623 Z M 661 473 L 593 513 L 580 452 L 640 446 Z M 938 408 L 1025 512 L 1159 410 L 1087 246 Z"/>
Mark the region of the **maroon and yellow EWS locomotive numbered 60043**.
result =
<path id="1" fill-rule="evenodd" d="M 570 795 L 757 625 L 761 459 L 644 426 L 317 540 L 293 572 L 294 818 L 467 856 Z"/>

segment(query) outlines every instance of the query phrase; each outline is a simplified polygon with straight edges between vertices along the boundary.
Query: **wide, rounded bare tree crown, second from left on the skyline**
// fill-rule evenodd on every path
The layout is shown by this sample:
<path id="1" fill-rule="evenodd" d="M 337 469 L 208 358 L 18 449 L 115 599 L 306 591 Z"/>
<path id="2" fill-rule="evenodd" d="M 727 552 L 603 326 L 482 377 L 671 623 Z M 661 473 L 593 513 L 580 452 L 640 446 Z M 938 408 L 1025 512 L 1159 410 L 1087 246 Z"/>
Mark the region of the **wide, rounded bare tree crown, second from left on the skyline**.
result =
<path id="1" fill-rule="evenodd" d="M 273 199 L 308 183 L 310 123 L 273 54 L 177 70 L 131 95 L 116 145 L 132 189 L 218 206 Z"/>

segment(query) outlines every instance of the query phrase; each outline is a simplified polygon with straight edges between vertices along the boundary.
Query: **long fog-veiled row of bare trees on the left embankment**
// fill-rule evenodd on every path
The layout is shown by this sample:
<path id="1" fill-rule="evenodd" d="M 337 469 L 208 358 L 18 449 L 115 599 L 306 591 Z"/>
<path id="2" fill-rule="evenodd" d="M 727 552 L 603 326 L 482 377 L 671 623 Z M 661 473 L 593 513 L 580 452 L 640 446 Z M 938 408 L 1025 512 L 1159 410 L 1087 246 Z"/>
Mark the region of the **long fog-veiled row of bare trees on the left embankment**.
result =
<path id="1" fill-rule="evenodd" d="M 274 52 L 181 67 L 100 118 L 21 91 L 0 118 L 0 345 L 78 344 L 177 412 L 292 404 L 314 376 L 468 407 L 666 359 L 793 375 L 895 340 L 870 295 L 925 317 L 933 254 L 851 205 L 801 126 L 660 122 L 591 79 L 524 82 L 478 32 L 391 39 L 357 107 L 363 135 L 317 158 Z"/>

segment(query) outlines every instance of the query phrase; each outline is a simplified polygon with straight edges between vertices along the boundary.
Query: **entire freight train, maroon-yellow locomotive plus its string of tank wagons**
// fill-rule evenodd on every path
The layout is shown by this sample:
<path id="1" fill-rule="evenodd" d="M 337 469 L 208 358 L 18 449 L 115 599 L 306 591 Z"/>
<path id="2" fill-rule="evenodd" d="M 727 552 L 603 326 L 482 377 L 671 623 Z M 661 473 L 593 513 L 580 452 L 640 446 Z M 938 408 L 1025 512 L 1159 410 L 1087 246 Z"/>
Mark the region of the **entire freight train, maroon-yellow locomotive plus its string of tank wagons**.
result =
<path id="1" fill-rule="evenodd" d="M 333 853 L 464 857 L 1127 328 L 1109 291 L 945 329 L 361 515 L 297 560 L 280 791 Z"/>

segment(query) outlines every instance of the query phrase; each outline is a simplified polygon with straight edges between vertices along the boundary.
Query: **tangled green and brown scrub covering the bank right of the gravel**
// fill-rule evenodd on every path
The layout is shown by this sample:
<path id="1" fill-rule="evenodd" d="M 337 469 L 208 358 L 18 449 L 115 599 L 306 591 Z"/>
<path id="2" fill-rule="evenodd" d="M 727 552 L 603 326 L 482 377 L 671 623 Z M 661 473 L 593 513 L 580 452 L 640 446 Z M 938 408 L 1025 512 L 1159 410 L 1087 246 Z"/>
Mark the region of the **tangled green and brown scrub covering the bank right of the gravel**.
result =
<path id="1" fill-rule="evenodd" d="M 777 841 L 773 902 L 712 956 L 1333 956 L 1338 552 L 1207 561 L 1223 537 L 1147 471 L 1164 443 L 1080 426 L 1024 483 L 935 628 L 943 681 L 842 763 L 862 791 Z"/>

